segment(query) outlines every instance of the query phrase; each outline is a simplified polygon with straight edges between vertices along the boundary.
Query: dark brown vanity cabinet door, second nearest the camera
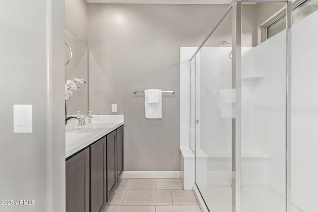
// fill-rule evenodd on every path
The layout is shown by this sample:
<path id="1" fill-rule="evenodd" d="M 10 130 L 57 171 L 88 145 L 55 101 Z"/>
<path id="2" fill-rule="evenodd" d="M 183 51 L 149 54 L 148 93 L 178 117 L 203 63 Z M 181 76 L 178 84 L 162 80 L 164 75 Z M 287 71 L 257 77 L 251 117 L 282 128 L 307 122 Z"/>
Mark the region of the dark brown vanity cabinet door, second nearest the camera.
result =
<path id="1" fill-rule="evenodd" d="M 106 137 L 90 147 L 91 212 L 100 212 L 107 201 L 106 193 Z"/>

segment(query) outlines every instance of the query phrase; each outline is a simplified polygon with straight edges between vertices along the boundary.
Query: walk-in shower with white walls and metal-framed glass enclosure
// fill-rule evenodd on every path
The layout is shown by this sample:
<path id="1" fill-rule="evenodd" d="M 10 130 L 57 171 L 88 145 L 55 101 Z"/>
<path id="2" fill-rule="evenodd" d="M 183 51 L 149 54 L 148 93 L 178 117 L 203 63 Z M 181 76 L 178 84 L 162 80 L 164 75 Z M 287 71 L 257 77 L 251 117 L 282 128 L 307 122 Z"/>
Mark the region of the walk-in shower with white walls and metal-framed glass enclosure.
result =
<path id="1" fill-rule="evenodd" d="M 292 33 L 302 3 L 235 0 L 199 48 L 181 49 L 193 53 L 190 148 L 210 212 L 318 211 L 318 12 Z"/>

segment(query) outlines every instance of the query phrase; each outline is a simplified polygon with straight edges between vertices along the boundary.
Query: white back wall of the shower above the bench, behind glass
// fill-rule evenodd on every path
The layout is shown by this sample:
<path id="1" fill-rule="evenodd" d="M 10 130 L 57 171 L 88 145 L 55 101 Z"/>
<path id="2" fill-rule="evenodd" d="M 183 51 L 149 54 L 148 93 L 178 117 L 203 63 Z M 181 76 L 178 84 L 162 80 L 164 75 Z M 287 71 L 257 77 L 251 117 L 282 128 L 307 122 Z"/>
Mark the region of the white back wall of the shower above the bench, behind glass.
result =
<path id="1" fill-rule="evenodd" d="M 232 48 L 229 47 L 203 47 L 200 51 L 200 136 L 201 147 L 227 149 L 231 153 L 232 149 L 232 119 L 221 117 L 221 105 L 219 93 L 221 89 L 232 88 L 232 60 L 229 54 Z M 254 75 L 262 75 L 255 73 L 255 51 L 251 47 L 244 47 L 243 60 L 243 77 L 251 77 Z M 253 84 L 254 81 L 252 81 Z M 249 105 L 251 86 L 248 79 L 244 79 L 242 83 L 242 104 L 243 117 L 245 118 L 253 110 L 253 106 Z M 253 100 L 252 100 L 253 102 Z M 248 117 L 251 119 L 253 117 Z M 253 132 L 247 131 L 252 128 L 252 123 L 246 119 L 242 119 L 242 147 L 255 148 L 250 142 L 254 141 Z M 246 130 L 245 130 L 246 129 Z"/>

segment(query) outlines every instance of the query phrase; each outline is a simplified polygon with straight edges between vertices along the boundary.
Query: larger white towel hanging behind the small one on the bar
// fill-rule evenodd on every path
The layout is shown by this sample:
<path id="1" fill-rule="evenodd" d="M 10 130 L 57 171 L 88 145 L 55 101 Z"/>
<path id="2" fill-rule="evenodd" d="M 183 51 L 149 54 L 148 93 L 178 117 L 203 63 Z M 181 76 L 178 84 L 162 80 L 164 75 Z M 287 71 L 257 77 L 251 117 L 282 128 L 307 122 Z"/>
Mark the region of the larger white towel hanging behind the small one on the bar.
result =
<path id="1" fill-rule="evenodd" d="M 159 90 L 158 103 L 149 103 L 149 91 L 145 90 L 145 115 L 147 119 L 162 118 L 162 95 Z"/>

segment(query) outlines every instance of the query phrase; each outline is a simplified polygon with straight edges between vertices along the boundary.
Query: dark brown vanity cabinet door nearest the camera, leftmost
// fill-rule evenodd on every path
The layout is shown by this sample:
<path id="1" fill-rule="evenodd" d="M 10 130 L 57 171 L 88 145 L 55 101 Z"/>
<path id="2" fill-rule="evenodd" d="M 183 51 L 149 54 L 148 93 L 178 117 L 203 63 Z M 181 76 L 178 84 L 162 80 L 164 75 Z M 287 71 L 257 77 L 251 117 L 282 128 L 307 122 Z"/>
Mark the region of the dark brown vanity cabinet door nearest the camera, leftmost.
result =
<path id="1" fill-rule="evenodd" d="M 66 161 L 66 211 L 89 212 L 89 148 Z"/>

